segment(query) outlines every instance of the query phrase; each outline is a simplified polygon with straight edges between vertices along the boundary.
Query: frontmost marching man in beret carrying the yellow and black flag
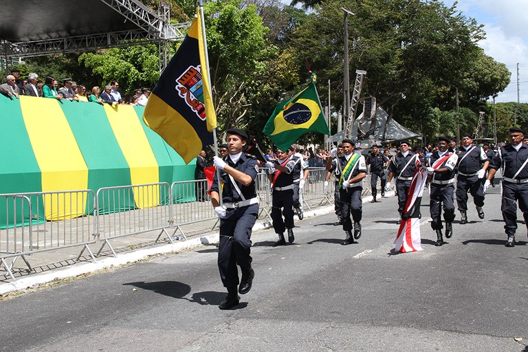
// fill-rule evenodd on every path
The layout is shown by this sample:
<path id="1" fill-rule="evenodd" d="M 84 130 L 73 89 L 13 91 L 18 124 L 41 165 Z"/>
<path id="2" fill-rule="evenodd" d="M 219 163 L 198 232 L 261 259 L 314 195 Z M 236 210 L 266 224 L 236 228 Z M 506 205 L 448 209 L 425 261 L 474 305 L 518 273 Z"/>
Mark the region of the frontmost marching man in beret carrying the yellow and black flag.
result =
<path id="1" fill-rule="evenodd" d="M 240 266 L 242 278 L 238 292 L 250 292 L 255 272 L 251 267 L 251 230 L 259 214 L 259 199 L 256 197 L 255 177 L 259 170 L 256 159 L 242 153 L 248 143 L 248 135 L 240 129 L 228 129 L 227 157 L 214 157 L 214 166 L 220 173 L 221 183 L 214 175 L 211 186 L 211 203 L 220 218 L 220 243 L 218 267 L 228 296 L 220 303 L 220 309 L 230 309 L 239 304 L 236 293 L 239 286 Z M 220 205 L 219 190 L 223 205 Z"/>

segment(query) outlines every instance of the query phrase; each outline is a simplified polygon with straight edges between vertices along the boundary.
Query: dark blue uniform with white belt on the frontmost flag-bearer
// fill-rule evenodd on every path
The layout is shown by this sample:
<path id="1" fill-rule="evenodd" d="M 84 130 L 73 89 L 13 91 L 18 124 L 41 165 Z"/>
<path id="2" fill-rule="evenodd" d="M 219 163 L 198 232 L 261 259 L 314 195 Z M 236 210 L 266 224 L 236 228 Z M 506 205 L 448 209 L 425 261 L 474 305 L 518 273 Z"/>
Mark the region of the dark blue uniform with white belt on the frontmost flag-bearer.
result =
<path id="1" fill-rule="evenodd" d="M 256 159 L 242 153 L 240 159 L 234 164 L 228 155 L 223 158 L 229 166 L 250 175 L 253 179 L 249 186 L 244 186 L 239 181 L 236 185 L 249 202 L 251 199 L 256 200 L 255 177 L 259 170 Z M 239 272 L 236 265 L 241 270 L 248 270 L 251 267 L 251 230 L 259 215 L 259 203 L 252 203 L 246 206 L 239 206 L 243 202 L 243 197 L 233 186 L 232 181 L 224 170 L 220 172 L 223 189 L 221 197 L 226 207 L 224 219 L 220 219 L 220 243 L 218 252 L 218 267 L 220 277 L 224 287 L 236 287 L 239 285 Z M 211 191 L 219 192 L 217 175 L 214 175 Z"/>

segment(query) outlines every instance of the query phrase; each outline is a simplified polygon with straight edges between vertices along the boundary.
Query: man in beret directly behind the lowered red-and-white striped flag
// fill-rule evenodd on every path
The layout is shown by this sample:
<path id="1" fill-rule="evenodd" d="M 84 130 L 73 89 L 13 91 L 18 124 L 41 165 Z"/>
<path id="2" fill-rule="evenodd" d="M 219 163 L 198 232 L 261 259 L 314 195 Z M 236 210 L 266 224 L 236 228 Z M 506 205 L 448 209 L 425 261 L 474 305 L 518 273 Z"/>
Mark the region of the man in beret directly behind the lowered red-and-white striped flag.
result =
<path id="1" fill-rule="evenodd" d="M 409 194 L 410 180 L 415 174 L 416 166 L 420 163 L 418 154 L 410 151 L 410 143 L 406 140 L 399 144 L 401 153 L 396 154 L 391 163 L 388 164 L 388 183 L 396 179 L 396 195 L 398 196 L 398 212 L 404 211 L 407 196 Z M 399 221 L 398 221 L 399 223 Z"/>

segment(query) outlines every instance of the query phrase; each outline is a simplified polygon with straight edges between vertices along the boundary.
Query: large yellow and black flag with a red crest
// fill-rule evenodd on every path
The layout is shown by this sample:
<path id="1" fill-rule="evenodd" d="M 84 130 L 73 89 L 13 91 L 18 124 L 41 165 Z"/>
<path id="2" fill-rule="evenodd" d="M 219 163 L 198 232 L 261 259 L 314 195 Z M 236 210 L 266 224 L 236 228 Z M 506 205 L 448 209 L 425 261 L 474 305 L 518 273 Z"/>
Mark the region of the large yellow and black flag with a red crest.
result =
<path id="1" fill-rule="evenodd" d="M 198 11 L 183 43 L 148 97 L 143 114 L 145 124 L 172 146 L 186 164 L 202 148 L 213 144 L 212 130 L 217 127 L 202 21 Z"/>

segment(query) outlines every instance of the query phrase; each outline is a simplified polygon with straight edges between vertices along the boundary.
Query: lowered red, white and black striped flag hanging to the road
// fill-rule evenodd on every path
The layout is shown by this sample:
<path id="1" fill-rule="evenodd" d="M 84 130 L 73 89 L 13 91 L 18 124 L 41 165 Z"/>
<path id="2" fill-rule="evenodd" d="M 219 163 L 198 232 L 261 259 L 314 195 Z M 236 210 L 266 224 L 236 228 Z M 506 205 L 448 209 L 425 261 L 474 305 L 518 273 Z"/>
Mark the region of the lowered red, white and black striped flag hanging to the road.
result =
<path id="1" fill-rule="evenodd" d="M 420 213 L 421 196 L 426 186 L 427 168 L 417 167 L 410 181 L 409 194 L 404 211 L 401 213 L 398 234 L 394 240 L 394 249 L 400 253 L 421 250 Z"/>

